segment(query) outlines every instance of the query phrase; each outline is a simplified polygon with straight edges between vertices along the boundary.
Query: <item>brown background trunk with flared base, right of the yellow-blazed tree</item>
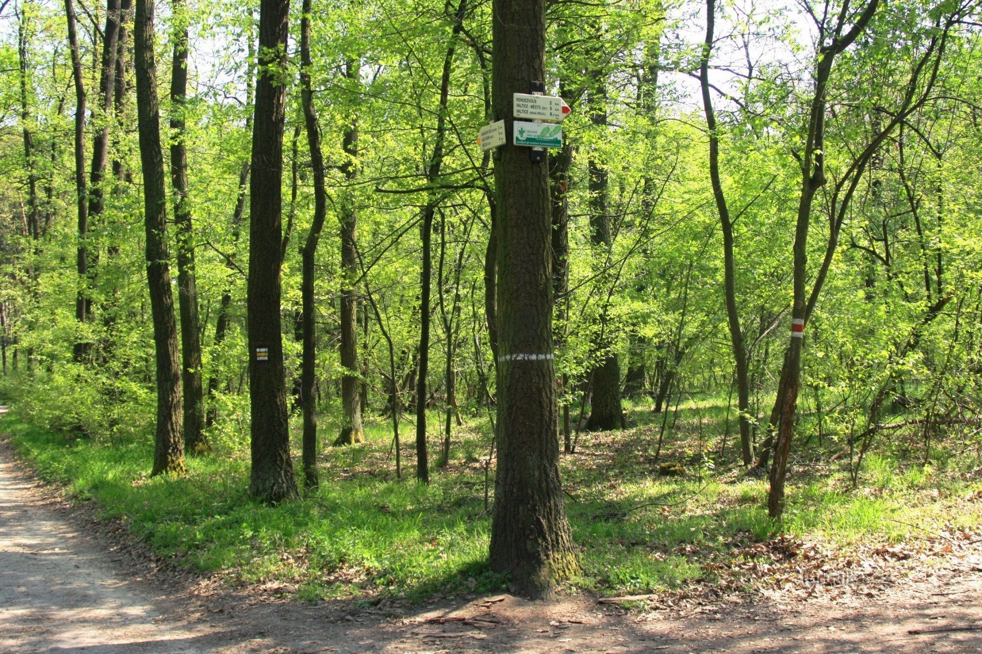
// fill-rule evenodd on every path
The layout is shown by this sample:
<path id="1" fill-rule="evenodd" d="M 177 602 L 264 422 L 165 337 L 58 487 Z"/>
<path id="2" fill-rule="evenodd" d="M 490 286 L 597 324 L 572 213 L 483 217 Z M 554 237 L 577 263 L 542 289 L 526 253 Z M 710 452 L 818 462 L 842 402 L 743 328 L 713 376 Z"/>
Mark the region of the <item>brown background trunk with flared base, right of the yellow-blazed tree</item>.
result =
<path id="1" fill-rule="evenodd" d="M 357 60 L 347 64 L 347 77 L 356 83 L 360 71 Z M 345 132 L 342 143 L 348 160 L 342 166 L 345 178 L 350 182 L 357 176 L 356 158 L 358 155 L 357 118 Z M 342 209 L 341 216 L 341 267 L 345 276 L 345 288 L 341 291 L 341 367 L 345 369 L 341 377 L 341 405 L 344 421 L 335 445 L 348 445 L 364 441 L 361 430 L 361 403 L 358 398 L 358 304 L 355 288 L 357 277 L 357 213 L 351 198 Z"/>

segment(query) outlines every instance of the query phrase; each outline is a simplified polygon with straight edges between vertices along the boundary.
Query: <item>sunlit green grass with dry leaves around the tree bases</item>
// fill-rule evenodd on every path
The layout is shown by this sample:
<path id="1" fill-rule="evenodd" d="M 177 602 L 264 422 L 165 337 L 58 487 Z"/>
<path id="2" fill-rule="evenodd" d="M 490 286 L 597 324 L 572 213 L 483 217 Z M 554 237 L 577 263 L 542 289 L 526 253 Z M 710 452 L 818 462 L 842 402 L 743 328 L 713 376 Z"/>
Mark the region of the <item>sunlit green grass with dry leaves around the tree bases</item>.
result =
<path id="1" fill-rule="evenodd" d="M 724 413 L 711 401 L 680 409 L 661 461 L 682 463 L 681 477 L 658 475 L 660 419 L 645 408 L 632 410 L 632 429 L 581 435 L 578 452 L 561 463 L 582 564 L 568 590 L 632 594 L 713 583 L 718 567 L 708 562 L 739 559 L 746 543 L 779 531 L 846 551 L 900 542 L 911 525 L 923 534 L 982 522 L 978 500 L 966 499 L 982 495 L 975 456 L 925 466 L 884 451 L 867 459 L 852 489 L 846 463 L 828 463 L 827 448 L 838 446 L 827 441 L 824 450 L 797 452 L 786 518 L 776 524 L 763 509 L 766 481 L 737 476 L 736 444 L 719 456 Z M 49 433 L 27 424 L 16 405 L 3 428 L 42 476 L 94 500 L 103 517 L 125 520 L 155 553 L 193 570 L 304 600 L 419 600 L 507 586 L 486 564 L 490 441 L 477 418 L 456 430 L 451 464 L 434 469 L 429 486 L 411 478 L 409 442 L 404 478 L 395 477 L 390 425 L 379 419 L 366 428 L 366 443 L 323 450 L 321 486 L 280 507 L 248 499 L 245 447 L 192 459 L 186 477 L 151 479 L 149 437 L 105 443 Z M 327 424 L 324 440 L 332 431 Z"/>

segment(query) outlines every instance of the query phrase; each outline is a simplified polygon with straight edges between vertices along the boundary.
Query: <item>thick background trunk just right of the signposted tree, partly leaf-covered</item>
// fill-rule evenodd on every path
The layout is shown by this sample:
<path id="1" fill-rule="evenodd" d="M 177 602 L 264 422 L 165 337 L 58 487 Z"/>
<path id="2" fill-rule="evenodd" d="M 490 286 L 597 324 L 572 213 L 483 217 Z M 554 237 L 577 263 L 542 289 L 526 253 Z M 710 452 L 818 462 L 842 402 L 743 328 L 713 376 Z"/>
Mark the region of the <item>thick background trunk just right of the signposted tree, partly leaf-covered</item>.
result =
<path id="1" fill-rule="evenodd" d="M 602 74 L 596 86 L 590 93 L 591 122 L 600 128 L 607 127 L 607 90 Z M 593 245 L 601 249 L 605 256 L 603 265 L 607 265 L 609 256 L 606 254 L 611 247 L 610 215 L 607 212 L 607 181 L 608 173 L 604 164 L 594 158 L 587 162 L 589 175 L 589 208 L 590 208 L 590 239 Z M 601 279 L 606 278 L 601 276 Z M 586 428 L 591 431 L 624 428 L 624 409 L 621 406 L 621 361 L 616 352 L 611 352 L 616 339 L 607 325 L 607 301 L 600 311 L 600 336 L 596 343 L 597 350 L 605 352 L 604 357 L 590 372 L 590 417 Z"/>

